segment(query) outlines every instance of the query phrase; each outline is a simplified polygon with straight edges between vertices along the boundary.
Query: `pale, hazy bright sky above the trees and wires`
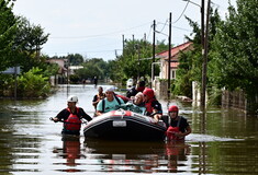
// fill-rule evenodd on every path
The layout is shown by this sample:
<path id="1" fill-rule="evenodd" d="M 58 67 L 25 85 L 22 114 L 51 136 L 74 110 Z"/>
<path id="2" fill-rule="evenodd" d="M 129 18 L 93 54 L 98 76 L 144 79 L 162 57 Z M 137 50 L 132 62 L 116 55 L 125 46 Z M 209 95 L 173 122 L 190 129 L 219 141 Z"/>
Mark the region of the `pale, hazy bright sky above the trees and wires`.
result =
<path id="1" fill-rule="evenodd" d="M 235 5 L 235 0 L 231 0 Z M 192 0 L 198 4 L 201 0 Z M 212 0 L 221 15 L 227 12 L 227 0 Z M 14 13 L 25 16 L 49 33 L 43 54 L 66 56 L 80 54 L 85 58 L 114 59 L 122 51 L 122 35 L 127 39 L 153 40 L 156 20 L 158 40 L 168 34 L 172 13 L 172 44 L 186 42 L 191 28 L 184 15 L 200 23 L 200 7 L 183 0 L 16 0 Z"/>

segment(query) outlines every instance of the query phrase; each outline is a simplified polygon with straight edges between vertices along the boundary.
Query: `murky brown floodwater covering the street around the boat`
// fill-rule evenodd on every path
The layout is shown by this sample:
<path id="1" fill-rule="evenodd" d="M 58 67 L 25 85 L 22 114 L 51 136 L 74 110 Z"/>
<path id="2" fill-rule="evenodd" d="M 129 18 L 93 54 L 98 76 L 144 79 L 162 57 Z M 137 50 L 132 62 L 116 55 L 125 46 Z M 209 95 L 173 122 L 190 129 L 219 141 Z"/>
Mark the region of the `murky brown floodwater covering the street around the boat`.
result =
<path id="1" fill-rule="evenodd" d="M 1 100 L 0 174 L 258 174 L 258 118 L 237 110 L 202 114 L 172 102 L 192 127 L 184 143 L 88 140 L 82 131 L 61 137 L 61 122 L 49 117 L 67 106 L 70 94 L 92 116 L 96 93 L 93 85 L 71 85 L 69 93 L 61 86 L 46 100 Z"/>

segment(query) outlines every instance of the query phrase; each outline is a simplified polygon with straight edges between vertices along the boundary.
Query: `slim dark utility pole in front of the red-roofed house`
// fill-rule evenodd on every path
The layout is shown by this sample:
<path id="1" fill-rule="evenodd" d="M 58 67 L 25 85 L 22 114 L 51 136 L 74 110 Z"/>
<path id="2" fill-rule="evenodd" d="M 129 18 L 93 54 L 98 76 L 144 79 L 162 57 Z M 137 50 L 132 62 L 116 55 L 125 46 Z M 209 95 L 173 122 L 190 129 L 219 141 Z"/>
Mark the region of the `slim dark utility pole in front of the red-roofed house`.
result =
<path id="1" fill-rule="evenodd" d="M 169 13 L 169 35 L 168 35 L 168 102 L 170 100 L 170 62 L 171 62 L 171 24 L 172 24 L 172 13 Z"/>

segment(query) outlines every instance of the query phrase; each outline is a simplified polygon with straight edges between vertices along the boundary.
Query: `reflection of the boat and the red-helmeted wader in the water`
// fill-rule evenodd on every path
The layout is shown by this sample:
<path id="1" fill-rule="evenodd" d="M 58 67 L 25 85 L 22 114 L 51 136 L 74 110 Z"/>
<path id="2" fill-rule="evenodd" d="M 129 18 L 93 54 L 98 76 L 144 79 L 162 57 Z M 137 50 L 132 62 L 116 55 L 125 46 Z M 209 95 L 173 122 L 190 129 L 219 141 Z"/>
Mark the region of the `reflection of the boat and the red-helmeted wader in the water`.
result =
<path id="1" fill-rule="evenodd" d="M 102 172 L 179 172 L 179 162 L 187 161 L 190 153 L 190 145 L 184 142 L 86 140 L 85 148 L 90 159 L 98 160 Z"/>

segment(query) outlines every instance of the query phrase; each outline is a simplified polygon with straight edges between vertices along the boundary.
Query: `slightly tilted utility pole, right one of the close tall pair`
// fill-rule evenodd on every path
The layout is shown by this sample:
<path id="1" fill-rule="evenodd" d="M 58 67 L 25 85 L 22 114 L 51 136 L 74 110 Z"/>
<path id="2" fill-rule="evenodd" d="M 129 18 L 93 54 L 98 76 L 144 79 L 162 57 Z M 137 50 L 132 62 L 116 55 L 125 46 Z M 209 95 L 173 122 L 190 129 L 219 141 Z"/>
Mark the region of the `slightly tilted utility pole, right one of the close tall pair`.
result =
<path id="1" fill-rule="evenodd" d="M 201 107 L 202 107 L 202 109 L 205 109 L 205 104 L 206 104 L 205 98 L 206 98 L 206 68 L 207 68 L 210 7 L 211 7 L 211 0 L 207 0 L 206 27 L 205 27 L 205 38 L 204 38 L 204 54 L 203 54 L 203 62 L 202 62 L 202 94 L 201 94 Z"/>

